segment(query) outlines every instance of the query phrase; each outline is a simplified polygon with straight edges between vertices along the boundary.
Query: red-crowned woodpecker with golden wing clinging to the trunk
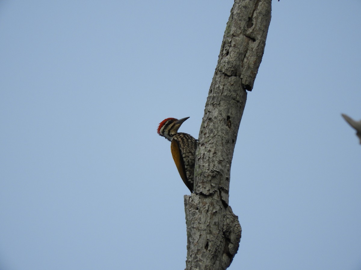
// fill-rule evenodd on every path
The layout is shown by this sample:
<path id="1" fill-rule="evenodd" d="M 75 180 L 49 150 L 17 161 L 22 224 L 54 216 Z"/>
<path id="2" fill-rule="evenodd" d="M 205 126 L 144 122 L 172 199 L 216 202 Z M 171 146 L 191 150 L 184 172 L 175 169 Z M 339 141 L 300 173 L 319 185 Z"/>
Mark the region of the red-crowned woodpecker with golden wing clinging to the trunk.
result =
<path id="1" fill-rule="evenodd" d="M 166 118 L 159 123 L 158 134 L 171 141 L 170 152 L 177 166 L 179 175 L 187 188 L 193 192 L 194 163 L 196 157 L 197 142 L 193 136 L 178 132 L 179 127 L 189 117 L 176 119 Z"/>

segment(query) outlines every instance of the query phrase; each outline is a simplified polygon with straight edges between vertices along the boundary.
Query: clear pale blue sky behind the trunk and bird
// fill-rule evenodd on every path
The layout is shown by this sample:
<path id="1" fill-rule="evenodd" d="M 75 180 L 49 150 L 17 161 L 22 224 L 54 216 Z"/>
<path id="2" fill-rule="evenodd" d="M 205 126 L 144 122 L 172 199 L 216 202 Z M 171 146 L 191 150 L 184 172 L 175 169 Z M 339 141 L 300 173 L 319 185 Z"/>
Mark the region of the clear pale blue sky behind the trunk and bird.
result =
<path id="1" fill-rule="evenodd" d="M 0 269 L 184 269 L 197 137 L 233 1 L 0 2 Z M 229 269 L 361 269 L 361 1 L 273 1 L 240 125 Z"/>

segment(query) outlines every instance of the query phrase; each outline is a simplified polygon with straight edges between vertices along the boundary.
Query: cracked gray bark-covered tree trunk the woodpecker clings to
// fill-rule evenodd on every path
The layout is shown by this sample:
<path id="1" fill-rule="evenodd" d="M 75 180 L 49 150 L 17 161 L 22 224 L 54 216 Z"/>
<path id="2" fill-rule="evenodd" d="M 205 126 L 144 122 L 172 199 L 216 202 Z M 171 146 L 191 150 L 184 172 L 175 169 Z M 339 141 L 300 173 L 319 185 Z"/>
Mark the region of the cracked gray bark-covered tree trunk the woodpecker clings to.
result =
<path id="1" fill-rule="evenodd" d="M 187 270 L 226 269 L 238 251 L 242 229 L 229 206 L 230 169 L 270 20 L 271 0 L 235 0 L 199 133 L 195 193 L 184 196 Z"/>

